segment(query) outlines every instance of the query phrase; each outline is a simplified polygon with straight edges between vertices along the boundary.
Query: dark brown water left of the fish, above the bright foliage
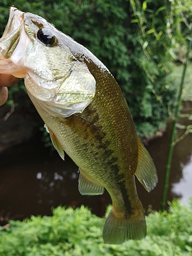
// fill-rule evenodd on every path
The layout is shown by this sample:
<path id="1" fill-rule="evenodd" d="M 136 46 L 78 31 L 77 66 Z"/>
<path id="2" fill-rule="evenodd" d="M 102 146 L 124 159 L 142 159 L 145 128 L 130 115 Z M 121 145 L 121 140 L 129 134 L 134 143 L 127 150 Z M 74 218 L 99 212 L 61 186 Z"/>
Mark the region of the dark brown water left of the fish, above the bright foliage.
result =
<path id="1" fill-rule="evenodd" d="M 81 204 L 102 216 L 105 204 L 110 203 L 106 192 L 104 197 L 80 195 L 78 167 L 67 155 L 63 161 L 56 151 L 44 148 L 39 136 L 3 152 L 0 173 L 0 212 L 3 210 L 4 217 L 51 215 L 58 205 Z"/>

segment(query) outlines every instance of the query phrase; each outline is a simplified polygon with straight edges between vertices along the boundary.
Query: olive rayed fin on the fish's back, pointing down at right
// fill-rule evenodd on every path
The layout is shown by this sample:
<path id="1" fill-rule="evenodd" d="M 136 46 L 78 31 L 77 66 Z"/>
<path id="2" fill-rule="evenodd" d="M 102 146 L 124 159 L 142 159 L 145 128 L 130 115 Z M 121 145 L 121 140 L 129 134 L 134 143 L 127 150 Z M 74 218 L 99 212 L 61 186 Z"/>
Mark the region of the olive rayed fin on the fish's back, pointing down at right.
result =
<path id="1" fill-rule="evenodd" d="M 156 186 L 157 172 L 155 165 L 140 140 L 138 141 L 138 163 L 135 175 L 148 192 Z"/>

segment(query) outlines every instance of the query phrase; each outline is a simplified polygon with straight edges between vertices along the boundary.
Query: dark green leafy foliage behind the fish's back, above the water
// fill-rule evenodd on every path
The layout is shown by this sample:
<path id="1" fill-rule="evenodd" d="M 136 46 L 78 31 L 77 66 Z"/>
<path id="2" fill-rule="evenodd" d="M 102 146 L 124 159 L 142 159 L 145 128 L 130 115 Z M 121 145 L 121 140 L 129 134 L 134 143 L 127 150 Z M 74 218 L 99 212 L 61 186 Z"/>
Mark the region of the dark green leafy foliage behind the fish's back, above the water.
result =
<path id="1" fill-rule="evenodd" d="M 106 65 L 121 86 L 143 138 L 161 129 L 174 108 L 176 84 L 170 57 L 185 44 L 179 26 L 186 24 L 184 15 L 190 27 L 189 1 L 18 0 L 16 7 L 43 16 Z M 3 33 L 12 1 L 1 2 Z"/>

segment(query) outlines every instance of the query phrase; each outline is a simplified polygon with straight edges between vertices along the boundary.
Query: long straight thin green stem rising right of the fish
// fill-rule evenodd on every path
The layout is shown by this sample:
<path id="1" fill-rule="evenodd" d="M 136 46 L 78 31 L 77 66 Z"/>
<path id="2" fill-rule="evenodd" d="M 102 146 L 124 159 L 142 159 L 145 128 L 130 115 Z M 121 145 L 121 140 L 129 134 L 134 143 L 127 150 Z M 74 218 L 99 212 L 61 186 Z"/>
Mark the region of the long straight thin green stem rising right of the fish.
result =
<path id="1" fill-rule="evenodd" d="M 179 108 L 181 105 L 181 94 L 182 94 L 182 89 L 183 89 L 183 83 L 184 83 L 184 78 L 185 78 L 187 62 L 189 59 L 189 50 L 191 49 L 191 45 L 192 45 L 192 38 L 189 38 L 189 40 L 190 41 L 189 41 L 188 51 L 187 51 L 187 55 L 186 55 L 186 61 L 183 66 L 183 72 L 182 72 L 181 83 L 180 83 L 180 88 L 179 88 L 179 93 L 178 93 L 178 98 L 177 98 L 177 105 L 176 105 L 176 110 L 175 110 L 175 117 L 173 120 L 173 126 L 172 126 L 172 132 L 171 132 L 170 147 L 169 147 L 169 152 L 168 152 L 167 162 L 166 162 L 165 179 L 164 179 L 163 195 L 162 195 L 162 202 L 161 202 L 161 211 L 163 211 L 166 206 L 166 197 L 167 197 L 167 190 L 169 187 L 169 178 L 170 178 L 170 169 L 171 169 L 171 162 L 172 162 L 172 156 L 173 156 L 176 124 L 177 124 L 177 120 L 178 120 Z"/>

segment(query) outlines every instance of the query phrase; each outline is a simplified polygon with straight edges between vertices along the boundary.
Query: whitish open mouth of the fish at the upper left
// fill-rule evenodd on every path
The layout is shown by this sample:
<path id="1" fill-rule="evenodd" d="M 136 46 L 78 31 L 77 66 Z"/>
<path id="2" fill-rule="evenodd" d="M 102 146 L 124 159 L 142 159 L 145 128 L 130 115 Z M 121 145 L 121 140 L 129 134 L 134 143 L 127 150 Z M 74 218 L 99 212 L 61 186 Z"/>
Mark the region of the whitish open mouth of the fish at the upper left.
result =
<path id="1" fill-rule="evenodd" d="M 0 39 L 0 59 L 8 59 L 16 48 L 20 28 L 23 24 L 24 12 L 19 11 L 15 7 L 10 8 L 9 20 L 4 31 L 2 38 Z"/>

